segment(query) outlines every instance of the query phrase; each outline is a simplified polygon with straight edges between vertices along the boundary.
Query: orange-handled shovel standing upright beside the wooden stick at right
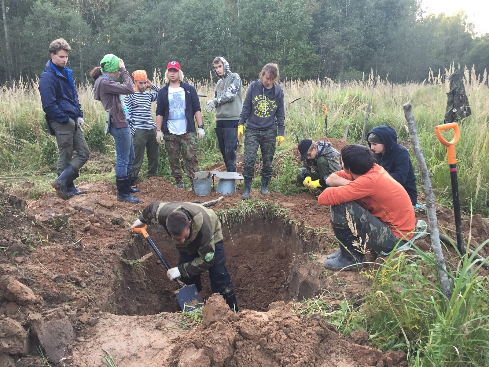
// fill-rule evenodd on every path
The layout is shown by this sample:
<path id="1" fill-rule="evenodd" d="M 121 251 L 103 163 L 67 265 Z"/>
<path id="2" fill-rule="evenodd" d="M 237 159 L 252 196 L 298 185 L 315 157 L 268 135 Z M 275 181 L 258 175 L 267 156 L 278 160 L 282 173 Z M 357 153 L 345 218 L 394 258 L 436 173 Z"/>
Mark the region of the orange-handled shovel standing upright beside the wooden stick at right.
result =
<path id="1" fill-rule="evenodd" d="M 453 129 L 453 139 L 446 141 L 442 137 L 442 130 Z M 446 153 L 448 155 L 448 165 L 450 167 L 450 181 L 452 184 L 452 197 L 453 197 L 453 214 L 455 216 L 455 230 L 457 231 L 457 248 L 460 255 L 465 255 L 466 249 L 464 244 L 464 233 L 462 232 L 462 217 L 460 215 L 460 199 L 458 192 L 457 181 L 457 155 L 455 153 L 455 144 L 460 139 L 460 130 L 456 122 L 450 122 L 444 125 L 435 126 L 436 137 L 440 142 L 446 146 Z"/>

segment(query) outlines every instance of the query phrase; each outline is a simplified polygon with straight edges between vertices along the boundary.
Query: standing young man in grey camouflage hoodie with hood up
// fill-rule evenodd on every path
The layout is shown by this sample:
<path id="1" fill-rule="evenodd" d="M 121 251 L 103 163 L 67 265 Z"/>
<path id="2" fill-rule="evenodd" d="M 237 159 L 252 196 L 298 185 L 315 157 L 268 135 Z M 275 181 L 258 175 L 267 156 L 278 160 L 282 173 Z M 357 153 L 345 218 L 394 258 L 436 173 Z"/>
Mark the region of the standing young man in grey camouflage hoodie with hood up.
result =
<path id="1" fill-rule="evenodd" d="M 226 171 L 236 172 L 236 148 L 238 146 L 238 121 L 243 108 L 240 76 L 229 70 L 229 63 L 222 56 L 213 61 L 219 78 L 214 98 L 207 101 L 205 111 L 216 109 L 216 131 Z"/>

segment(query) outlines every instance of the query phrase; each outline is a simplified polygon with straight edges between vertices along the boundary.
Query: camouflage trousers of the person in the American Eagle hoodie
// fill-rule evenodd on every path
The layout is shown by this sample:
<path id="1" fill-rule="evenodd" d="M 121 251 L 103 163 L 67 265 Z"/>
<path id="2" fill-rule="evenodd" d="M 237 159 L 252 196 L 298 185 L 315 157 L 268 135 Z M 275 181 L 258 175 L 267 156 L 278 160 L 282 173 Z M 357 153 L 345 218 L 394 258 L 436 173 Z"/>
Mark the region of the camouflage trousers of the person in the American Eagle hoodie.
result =
<path id="1" fill-rule="evenodd" d="M 258 146 L 262 152 L 262 169 L 260 175 L 270 179 L 273 172 L 273 156 L 275 155 L 275 143 L 277 140 L 277 130 L 253 130 L 246 129 L 244 135 L 244 163 L 243 176 L 251 177 L 255 175 L 255 161 L 258 153 Z"/>

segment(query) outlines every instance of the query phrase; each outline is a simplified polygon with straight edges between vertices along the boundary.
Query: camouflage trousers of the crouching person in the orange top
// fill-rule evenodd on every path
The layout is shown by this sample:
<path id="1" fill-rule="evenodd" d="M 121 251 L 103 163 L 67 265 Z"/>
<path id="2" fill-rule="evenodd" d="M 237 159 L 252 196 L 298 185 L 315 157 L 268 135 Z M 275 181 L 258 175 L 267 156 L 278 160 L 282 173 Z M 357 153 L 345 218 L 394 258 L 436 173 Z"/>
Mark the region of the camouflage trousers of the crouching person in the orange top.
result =
<path id="1" fill-rule="evenodd" d="M 338 229 L 348 229 L 348 212 L 356 225 L 357 239 L 361 239 L 362 245 L 365 244 L 375 252 L 381 251 L 388 253 L 399 243 L 403 245 L 406 241 L 394 235 L 392 229 L 377 217 L 374 217 L 367 209 L 358 205 L 354 201 L 349 201 L 339 205 L 333 205 L 331 210 L 331 225 Z M 366 240 L 368 235 L 368 240 Z M 358 241 L 360 242 L 360 241 Z M 398 247 L 399 247 L 398 246 Z"/>

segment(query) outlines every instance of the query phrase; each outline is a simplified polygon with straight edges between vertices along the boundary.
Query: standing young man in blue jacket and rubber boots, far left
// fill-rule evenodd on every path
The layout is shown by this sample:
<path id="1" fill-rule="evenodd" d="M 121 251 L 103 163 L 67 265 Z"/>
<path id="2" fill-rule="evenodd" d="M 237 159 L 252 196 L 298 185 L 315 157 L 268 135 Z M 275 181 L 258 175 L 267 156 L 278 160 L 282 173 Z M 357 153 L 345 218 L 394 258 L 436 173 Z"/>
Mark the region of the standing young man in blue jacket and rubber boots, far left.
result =
<path id="1" fill-rule="evenodd" d="M 89 147 L 83 136 L 83 111 L 78 101 L 71 70 L 66 67 L 71 47 L 60 38 L 49 45 L 51 60 L 39 79 L 39 92 L 49 133 L 56 137 L 59 158 L 58 178 L 51 184 L 62 199 L 85 194 L 78 190 L 73 180 L 89 159 Z M 76 154 L 73 156 L 73 150 Z"/>

